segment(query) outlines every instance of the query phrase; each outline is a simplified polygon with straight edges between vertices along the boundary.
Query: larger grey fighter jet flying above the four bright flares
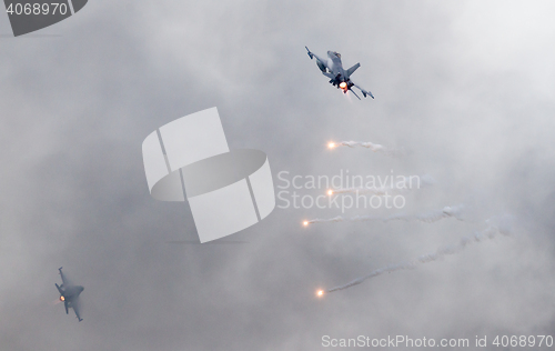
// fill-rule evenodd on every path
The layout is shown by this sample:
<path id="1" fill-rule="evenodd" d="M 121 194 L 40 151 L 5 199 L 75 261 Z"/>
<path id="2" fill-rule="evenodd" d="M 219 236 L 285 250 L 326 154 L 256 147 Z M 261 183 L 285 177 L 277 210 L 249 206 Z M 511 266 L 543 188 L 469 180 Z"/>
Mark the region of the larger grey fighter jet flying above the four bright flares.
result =
<path id="1" fill-rule="evenodd" d="M 351 91 L 356 98 L 359 98 L 354 90 L 351 89 L 353 87 L 356 87 L 362 92 L 364 98 L 366 98 L 366 96 L 370 96 L 372 99 L 374 99 L 372 92 L 362 89 L 351 80 L 351 74 L 353 74 L 353 72 L 356 71 L 359 67 L 361 67 L 361 63 L 356 63 L 350 69 L 344 70 L 343 64 L 341 63 L 341 53 L 335 51 L 327 51 L 327 58 L 322 58 L 311 52 L 309 48 L 306 48 L 306 51 L 309 52 L 309 57 L 311 58 L 311 60 L 313 58 L 316 58 L 316 66 L 322 71 L 322 74 L 330 78 L 330 83 L 332 83 L 334 87 L 337 87 L 337 89 L 341 89 L 343 93 Z M 361 100 L 361 98 L 359 98 L 359 100 Z"/>

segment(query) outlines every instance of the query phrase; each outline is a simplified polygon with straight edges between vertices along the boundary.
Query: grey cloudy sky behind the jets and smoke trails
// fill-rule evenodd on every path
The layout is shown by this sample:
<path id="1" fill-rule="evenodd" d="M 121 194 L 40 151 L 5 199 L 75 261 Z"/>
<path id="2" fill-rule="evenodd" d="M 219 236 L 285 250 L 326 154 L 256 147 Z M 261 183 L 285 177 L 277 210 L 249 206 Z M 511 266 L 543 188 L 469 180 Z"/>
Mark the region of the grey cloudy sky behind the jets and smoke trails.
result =
<path id="1" fill-rule="evenodd" d="M 20 38 L 0 16 L 0 349 L 319 350 L 325 334 L 554 335 L 554 10 L 551 1 L 91 0 Z M 376 99 L 327 84 L 304 46 L 361 62 L 353 79 Z M 189 205 L 150 197 L 141 143 L 211 107 L 231 148 L 268 153 L 275 185 L 280 171 L 427 173 L 436 184 L 407 194 L 407 212 L 464 202 L 480 221 L 302 228 L 341 211 L 275 209 L 223 243 L 195 244 Z M 332 140 L 407 154 L 329 151 Z M 346 214 L 367 213 L 394 212 Z M 509 237 L 314 297 L 503 213 L 515 219 Z M 85 288 L 81 323 L 53 304 L 60 265 Z"/>

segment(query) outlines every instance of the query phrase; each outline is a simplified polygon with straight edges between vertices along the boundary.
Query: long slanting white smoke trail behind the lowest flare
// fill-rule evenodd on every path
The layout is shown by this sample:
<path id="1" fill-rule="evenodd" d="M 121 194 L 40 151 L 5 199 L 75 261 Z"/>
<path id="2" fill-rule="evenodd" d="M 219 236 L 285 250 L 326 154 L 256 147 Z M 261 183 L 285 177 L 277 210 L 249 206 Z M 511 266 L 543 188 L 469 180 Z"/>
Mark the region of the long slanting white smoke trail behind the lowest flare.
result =
<path id="1" fill-rule="evenodd" d="M 505 219 L 507 219 L 507 217 L 505 217 Z M 490 227 L 487 227 L 485 230 L 476 232 L 474 235 L 463 237 L 458 243 L 442 247 L 442 248 L 437 249 L 437 251 L 435 251 L 433 253 L 421 255 L 420 258 L 417 258 L 416 260 L 411 261 L 411 262 L 390 264 L 390 265 L 376 269 L 376 270 L 370 272 L 370 274 L 367 274 L 367 275 L 356 278 L 346 284 L 337 285 L 335 288 L 329 289 L 326 292 L 334 292 L 337 290 L 344 290 L 344 289 L 347 289 L 347 288 L 351 288 L 354 285 L 359 285 L 360 283 L 364 282 L 365 280 L 381 275 L 383 273 L 391 273 L 391 272 L 401 271 L 401 270 L 414 269 L 418 264 L 424 264 L 424 263 L 437 261 L 438 259 L 441 259 L 447 254 L 458 253 L 473 242 L 481 242 L 481 241 L 486 240 L 486 239 L 494 239 L 497 235 L 497 233 L 507 235 L 511 232 L 509 225 L 508 225 L 509 223 L 507 223 L 507 221 L 505 221 L 505 223 L 501 223 L 501 225 L 493 224 L 492 220 L 487 220 L 486 223 L 488 223 Z"/>

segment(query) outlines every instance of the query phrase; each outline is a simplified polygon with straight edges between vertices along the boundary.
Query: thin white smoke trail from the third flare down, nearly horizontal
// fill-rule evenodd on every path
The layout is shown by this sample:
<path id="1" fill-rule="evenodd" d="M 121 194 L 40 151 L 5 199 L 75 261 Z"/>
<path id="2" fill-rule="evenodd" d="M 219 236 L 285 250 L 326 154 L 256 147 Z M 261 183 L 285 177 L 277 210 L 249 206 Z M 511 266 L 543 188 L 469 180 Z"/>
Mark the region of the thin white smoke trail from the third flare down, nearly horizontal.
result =
<path id="1" fill-rule="evenodd" d="M 437 211 L 432 211 L 432 212 L 427 212 L 427 213 L 423 213 L 423 214 L 415 214 L 415 215 L 411 215 L 411 214 L 404 214 L 404 213 L 400 213 L 400 214 L 392 214 L 392 215 L 387 215 L 387 217 L 376 217 L 376 215 L 355 215 L 355 217 L 351 217 L 351 218 L 346 218 L 346 217 L 341 217 L 341 215 L 337 215 L 337 217 L 334 217 L 334 218 L 330 218 L 330 219 L 320 219 L 320 218 L 316 218 L 316 219 L 313 219 L 313 220 L 307 220 L 305 221 L 306 224 L 312 224 L 312 223 L 327 223 L 327 222 L 360 222 L 360 221 L 382 221 L 382 222 L 390 222 L 390 221 L 421 221 L 421 222 L 425 222 L 425 223 L 433 223 L 433 222 L 437 222 L 442 219 L 445 219 L 445 218 L 455 218 L 460 221 L 464 221 L 464 205 L 463 204 L 458 204 L 458 205 L 447 205 L 447 207 L 444 207 L 443 210 L 437 210 Z"/>

